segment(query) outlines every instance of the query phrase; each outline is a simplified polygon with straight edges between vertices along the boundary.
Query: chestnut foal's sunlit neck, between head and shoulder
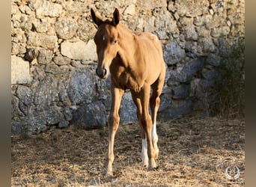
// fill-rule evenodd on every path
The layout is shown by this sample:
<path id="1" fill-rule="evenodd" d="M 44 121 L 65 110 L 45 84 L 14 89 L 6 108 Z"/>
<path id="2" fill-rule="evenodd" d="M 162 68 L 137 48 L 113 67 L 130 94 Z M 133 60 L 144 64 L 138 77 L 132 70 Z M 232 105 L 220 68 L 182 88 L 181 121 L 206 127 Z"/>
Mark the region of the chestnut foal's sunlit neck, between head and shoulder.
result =
<path id="1" fill-rule="evenodd" d="M 127 28 L 125 25 L 118 25 L 118 35 L 120 40 L 119 46 L 120 49 L 118 50 L 118 54 L 121 57 L 121 60 L 123 62 L 123 65 L 125 67 L 129 67 L 129 63 L 131 62 L 130 59 L 134 57 L 135 53 L 135 42 L 134 42 L 134 36 L 135 34 L 132 33 L 129 28 Z"/>

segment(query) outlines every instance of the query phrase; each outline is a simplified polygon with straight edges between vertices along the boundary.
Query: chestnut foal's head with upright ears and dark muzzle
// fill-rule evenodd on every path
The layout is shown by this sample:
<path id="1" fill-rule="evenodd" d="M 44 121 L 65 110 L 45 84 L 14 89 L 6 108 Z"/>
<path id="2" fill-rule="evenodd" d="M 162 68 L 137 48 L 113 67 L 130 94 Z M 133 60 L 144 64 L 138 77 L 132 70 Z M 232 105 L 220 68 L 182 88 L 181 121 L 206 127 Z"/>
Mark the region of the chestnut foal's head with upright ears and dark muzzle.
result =
<path id="1" fill-rule="evenodd" d="M 98 57 L 96 73 L 101 79 L 106 79 L 109 76 L 110 64 L 118 54 L 117 25 L 120 21 L 120 13 L 115 8 L 113 19 L 103 21 L 102 17 L 91 8 L 91 17 L 98 28 L 94 36 Z"/>

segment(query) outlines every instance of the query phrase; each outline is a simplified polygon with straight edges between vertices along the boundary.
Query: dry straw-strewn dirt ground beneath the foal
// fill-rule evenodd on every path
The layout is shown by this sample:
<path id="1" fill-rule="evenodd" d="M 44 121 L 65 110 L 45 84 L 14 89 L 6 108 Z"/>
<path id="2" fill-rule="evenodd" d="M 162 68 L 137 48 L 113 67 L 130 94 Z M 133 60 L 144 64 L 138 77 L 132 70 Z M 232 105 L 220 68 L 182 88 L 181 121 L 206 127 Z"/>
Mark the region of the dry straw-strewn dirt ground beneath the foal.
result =
<path id="1" fill-rule="evenodd" d="M 107 128 L 52 127 L 39 135 L 12 137 L 11 185 L 245 185 L 244 119 L 186 117 L 159 122 L 157 133 L 158 168 L 148 171 L 141 166 L 138 124 L 120 126 L 115 138 L 113 177 L 103 176 Z"/>

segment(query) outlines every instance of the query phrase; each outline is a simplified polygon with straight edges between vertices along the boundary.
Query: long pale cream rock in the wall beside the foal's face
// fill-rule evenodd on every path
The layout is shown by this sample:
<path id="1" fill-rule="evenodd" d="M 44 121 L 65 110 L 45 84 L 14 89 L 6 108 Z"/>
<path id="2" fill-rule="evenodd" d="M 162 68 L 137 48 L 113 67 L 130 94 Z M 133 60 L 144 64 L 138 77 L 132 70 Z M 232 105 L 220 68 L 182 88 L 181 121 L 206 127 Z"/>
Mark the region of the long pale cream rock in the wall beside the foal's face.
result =
<path id="1" fill-rule="evenodd" d="M 97 61 L 94 40 L 89 40 L 88 43 L 82 40 L 77 42 L 65 41 L 61 43 L 61 54 L 73 60 Z"/>

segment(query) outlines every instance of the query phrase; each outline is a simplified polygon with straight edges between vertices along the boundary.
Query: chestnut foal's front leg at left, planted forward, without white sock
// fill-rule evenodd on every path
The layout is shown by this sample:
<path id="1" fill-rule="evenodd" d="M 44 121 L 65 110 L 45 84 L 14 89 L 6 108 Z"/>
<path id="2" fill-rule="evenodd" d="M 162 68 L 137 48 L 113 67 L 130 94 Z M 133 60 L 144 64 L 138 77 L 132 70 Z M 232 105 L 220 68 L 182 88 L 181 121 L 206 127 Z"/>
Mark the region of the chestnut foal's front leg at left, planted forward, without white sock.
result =
<path id="1" fill-rule="evenodd" d="M 107 154 L 107 168 L 106 168 L 106 175 L 112 176 L 112 164 L 114 162 L 114 141 L 115 141 L 115 134 L 118 130 L 120 117 L 118 114 L 120 105 L 121 105 L 121 98 L 124 94 L 124 90 L 120 88 L 115 88 L 112 85 L 111 89 L 112 93 L 112 106 L 109 114 L 109 148 Z"/>

